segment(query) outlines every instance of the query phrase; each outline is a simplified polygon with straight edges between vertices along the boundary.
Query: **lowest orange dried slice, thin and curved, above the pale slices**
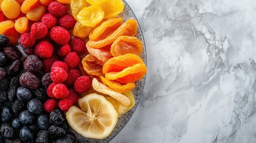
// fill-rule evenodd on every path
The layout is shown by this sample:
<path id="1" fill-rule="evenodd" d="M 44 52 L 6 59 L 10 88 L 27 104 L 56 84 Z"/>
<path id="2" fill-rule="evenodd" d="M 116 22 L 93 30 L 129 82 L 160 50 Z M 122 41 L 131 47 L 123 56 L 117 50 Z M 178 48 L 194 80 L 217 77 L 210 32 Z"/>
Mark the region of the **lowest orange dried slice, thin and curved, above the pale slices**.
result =
<path id="1" fill-rule="evenodd" d="M 101 76 L 100 79 L 102 80 L 104 85 L 109 86 L 109 88 L 113 89 L 113 91 L 115 92 L 125 93 L 135 88 L 134 83 L 127 83 L 126 85 L 121 85 L 120 83 L 113 80 L 107 80 L 103 76 Z"/>

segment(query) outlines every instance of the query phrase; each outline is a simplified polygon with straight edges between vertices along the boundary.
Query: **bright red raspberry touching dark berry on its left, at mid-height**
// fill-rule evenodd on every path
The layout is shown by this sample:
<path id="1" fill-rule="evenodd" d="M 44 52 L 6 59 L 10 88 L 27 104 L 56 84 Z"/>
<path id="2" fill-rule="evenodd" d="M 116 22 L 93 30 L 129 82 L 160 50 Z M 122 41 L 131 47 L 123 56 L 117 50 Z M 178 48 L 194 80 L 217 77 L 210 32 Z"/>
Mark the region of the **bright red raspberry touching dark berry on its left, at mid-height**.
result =
<path id="1" fill-rule="evenodd" d="M 67 71 L 61 67 L 54 67 L 51 70 L 51 80 L 55 83 L 62 83 L 67 79 Z"/>

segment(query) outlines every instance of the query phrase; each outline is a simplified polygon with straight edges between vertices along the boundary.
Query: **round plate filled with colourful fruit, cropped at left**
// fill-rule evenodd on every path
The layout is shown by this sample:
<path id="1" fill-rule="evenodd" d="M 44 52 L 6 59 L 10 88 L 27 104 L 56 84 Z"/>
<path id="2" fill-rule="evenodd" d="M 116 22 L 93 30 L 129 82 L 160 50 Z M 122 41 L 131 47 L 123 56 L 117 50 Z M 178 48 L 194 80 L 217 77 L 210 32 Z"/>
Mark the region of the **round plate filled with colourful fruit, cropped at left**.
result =
<path id="1" fill-rule="evenodd" d="M 109 142 L 146 73 L 125 1 L 0 0 L 0 142 Z"/>

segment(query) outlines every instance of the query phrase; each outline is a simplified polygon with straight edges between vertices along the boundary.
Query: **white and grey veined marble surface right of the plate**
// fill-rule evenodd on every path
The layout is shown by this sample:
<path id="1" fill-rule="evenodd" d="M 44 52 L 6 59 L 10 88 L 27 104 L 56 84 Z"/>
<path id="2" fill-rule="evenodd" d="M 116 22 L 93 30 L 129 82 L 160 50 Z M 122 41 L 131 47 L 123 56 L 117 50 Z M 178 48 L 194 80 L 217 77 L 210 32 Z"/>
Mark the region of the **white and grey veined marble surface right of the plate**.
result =
<path id="1" fill-rule="evenodd" d="M 144 94 L 111 142 L 256 142 L 256 1 L 127 0 L 144 32 Z"/>

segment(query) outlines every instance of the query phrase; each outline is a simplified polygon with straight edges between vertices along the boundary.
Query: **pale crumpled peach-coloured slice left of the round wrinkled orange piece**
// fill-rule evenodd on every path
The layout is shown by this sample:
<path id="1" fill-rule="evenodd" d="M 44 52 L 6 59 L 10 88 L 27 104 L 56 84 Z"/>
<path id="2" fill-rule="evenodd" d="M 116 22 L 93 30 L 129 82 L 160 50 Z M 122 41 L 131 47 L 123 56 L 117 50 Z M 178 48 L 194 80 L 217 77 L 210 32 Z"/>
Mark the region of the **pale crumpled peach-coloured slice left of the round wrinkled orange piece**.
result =
<path id="1" fill-rule="evenodd" d="M 105 48 L 95 49 L 87 45 L 87 51 L 103 63 L 106 63 L 113 57 L 110 51 L 107 51 Z"/>

